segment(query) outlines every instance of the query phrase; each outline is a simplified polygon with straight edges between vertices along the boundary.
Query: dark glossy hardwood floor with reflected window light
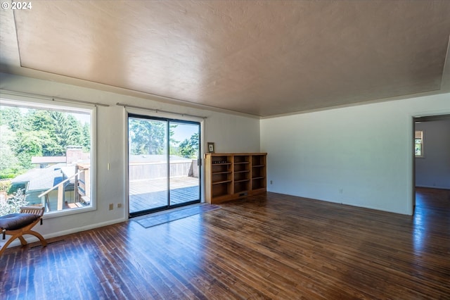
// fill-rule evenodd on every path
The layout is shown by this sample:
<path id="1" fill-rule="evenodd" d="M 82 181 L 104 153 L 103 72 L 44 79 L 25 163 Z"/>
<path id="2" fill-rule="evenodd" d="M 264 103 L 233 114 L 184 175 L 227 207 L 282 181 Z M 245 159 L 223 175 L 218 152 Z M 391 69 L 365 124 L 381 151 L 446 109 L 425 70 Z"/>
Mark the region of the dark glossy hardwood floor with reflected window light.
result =
<path id="1" fill-rule="evenodd" d="M 450 299 L 450 191 L 416 214 L 268 193 L 7 249 L 0 299 Z"/>

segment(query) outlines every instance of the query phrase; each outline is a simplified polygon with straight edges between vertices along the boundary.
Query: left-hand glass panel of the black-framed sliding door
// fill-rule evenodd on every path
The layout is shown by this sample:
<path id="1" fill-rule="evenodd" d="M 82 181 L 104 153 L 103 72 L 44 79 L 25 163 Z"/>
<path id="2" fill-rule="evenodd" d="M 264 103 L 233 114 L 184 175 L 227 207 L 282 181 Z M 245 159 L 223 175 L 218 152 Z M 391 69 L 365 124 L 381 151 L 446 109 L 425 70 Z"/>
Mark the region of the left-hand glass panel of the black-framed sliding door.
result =
<path id="1" fill-rule="evenodd" d="M 130 117 L 129 213 L 168 206 L 167 121 Z"/>

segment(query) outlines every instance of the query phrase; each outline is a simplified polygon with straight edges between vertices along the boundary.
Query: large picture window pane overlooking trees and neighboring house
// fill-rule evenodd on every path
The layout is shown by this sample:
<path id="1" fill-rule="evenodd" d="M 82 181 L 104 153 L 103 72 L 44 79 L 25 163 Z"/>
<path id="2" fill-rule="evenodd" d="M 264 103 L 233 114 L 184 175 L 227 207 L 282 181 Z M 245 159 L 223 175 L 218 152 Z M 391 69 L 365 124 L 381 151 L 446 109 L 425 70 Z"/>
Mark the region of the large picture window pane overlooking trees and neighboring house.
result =
<path id="1" fill-rule="evenodd" d="M 94 108 L 0 98 L 0 215 L 93 207 Z"/>

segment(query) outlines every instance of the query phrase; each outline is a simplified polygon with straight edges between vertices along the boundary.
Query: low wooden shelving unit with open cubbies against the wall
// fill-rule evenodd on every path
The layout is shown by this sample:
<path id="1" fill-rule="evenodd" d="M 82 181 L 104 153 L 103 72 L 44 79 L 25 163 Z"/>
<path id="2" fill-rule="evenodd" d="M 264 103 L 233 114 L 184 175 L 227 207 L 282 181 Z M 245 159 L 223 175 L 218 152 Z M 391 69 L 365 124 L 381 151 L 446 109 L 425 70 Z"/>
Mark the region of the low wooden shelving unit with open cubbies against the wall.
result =
<path id="1" fill-rule="evenodd" d="M 210 204 L 266 192 L 266 153 L 205 154 Z"/>

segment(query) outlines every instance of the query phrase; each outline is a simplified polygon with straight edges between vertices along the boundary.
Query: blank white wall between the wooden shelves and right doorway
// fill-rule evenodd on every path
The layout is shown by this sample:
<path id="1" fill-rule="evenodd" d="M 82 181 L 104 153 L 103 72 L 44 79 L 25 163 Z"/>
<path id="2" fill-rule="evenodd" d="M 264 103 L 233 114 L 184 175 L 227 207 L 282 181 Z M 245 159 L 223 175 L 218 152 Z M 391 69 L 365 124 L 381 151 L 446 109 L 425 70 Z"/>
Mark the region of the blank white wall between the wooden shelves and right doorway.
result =
<path id="1" fill-rule="evenodd" d="M 450 94 L 263 119 L 268 190 L 411 215 L 413 117 L 444 113 Z"/>

